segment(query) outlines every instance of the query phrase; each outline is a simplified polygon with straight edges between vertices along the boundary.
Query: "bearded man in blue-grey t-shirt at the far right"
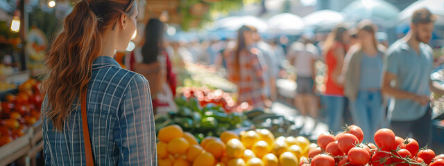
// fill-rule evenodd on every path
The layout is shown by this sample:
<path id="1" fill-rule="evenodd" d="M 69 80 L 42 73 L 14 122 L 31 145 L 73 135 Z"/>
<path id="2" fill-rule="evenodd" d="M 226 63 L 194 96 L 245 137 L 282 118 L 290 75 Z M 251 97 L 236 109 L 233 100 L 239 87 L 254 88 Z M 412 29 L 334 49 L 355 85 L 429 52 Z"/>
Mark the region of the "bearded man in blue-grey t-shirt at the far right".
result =
<path id="1" fill-rule="evenodd" d="M 427 43 L 436 19 L 426 8 L 413 12 L 409 33 L 386 51 L 382 82 L 382 92 L 391 96 L 388 106 L 391 129 L 401 138 L 412 138 L 412 134 L 421 147 L 431 138 L 430 91 L 444 92 L 429 77 L 433 52 Z"/>

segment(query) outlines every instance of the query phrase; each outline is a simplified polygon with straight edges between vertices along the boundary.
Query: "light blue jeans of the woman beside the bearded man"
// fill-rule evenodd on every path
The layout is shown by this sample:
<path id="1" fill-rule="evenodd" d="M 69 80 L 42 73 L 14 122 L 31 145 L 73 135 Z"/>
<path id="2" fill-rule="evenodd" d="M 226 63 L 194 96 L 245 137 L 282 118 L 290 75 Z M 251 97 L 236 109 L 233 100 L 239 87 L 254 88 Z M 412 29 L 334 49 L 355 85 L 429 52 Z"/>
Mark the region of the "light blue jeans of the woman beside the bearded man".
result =
<path id="1" fill-rule="evenodd" d="M 384 122 L 384 106 L 381 91 L 359 91 L 350 102 L 353 122 L 364 131 L 364 140 L 374 142 L 373 136 Z"/>

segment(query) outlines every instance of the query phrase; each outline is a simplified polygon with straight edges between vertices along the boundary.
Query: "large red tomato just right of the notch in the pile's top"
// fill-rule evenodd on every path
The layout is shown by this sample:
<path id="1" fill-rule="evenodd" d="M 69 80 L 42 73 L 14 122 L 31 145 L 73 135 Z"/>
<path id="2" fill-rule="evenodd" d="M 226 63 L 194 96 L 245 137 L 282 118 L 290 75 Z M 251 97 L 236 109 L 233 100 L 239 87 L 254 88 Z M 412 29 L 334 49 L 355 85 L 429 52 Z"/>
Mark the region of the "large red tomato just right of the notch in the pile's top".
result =
<path id="1" fill-rule="evenodd" d="M 377 147 L 384 151 L 396 148 L 395 133 L 391 129 L 379 129 L 374 136 Z"/>

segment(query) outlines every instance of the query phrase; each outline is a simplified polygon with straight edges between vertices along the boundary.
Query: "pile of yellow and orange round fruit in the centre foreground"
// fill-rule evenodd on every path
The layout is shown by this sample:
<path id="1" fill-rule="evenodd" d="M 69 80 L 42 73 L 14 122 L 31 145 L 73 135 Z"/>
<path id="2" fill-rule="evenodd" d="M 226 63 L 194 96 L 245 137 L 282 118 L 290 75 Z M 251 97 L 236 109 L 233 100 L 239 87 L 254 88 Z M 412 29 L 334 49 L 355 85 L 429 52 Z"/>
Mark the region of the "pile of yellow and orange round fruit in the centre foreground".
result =
<path id="1" fill-rule="evenodd" d="M 275 138 L 267 129 L 224 131 L 198 143 L 176 124 L 160 129 L 157 138 L 159 166 L 298 166 L 316 146 L 301 136 Z"/>

